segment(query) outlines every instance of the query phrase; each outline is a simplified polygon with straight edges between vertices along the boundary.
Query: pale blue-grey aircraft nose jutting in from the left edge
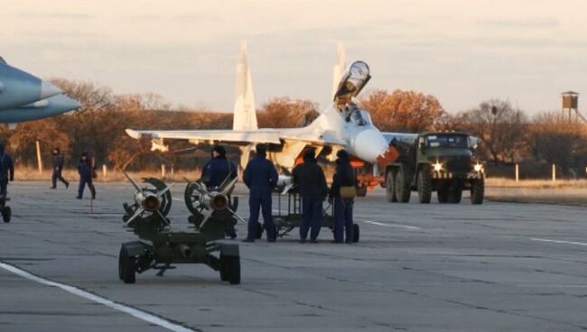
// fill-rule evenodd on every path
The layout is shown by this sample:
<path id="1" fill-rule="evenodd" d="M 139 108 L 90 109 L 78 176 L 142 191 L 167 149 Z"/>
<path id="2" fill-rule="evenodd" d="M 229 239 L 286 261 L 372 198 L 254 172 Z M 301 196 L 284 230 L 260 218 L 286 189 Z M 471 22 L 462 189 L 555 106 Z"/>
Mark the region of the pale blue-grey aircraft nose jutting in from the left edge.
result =
<path id="1" fill-rule="evenodd" d="M 61 115 L 80 107 L 60 88 L 0 58 L 0 123 L 24 121 Z"/>

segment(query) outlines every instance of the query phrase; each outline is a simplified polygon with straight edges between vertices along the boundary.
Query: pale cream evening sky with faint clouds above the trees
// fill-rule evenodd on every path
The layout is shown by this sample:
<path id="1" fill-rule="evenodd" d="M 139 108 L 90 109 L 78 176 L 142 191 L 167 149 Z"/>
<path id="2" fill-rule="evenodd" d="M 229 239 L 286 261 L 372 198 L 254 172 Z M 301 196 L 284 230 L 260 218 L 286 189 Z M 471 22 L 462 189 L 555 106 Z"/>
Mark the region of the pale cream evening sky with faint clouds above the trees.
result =
<path id="1" fill-rule="evenodd" d="M 257 106 L 321 107 L 340 42 L 347 62 L 368 62 L 367 90 L 422 91 L 450 113 L 508 99 L 533 115 L 587 94 L 586 15 L 584 0 L 0 0 L 0 56 L 42 78 L 230 111 L 241 41 Z"/>

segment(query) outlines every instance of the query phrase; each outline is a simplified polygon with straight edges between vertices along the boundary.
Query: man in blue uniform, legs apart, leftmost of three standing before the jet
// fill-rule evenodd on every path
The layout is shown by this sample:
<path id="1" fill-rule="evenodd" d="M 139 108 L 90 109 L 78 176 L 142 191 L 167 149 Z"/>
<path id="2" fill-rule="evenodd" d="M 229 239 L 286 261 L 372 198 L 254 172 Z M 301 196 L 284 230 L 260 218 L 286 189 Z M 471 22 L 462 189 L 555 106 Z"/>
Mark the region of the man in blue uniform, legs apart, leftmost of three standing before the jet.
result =
<path id="1" fill-rule="evenodd" d="M 272 161 L 266 159 L 265 144 L 256 144 L 256 156 L 247 163 L 243 180 L 250 189 L 248 196 L 248 235 L 244 242 L 255 242 L 259 220 L 259 208 L 263 209 L 263 221 L 267 232 L 267 242 L 275 242 L 275 224 L 271 210 L 271 190 L 275 187 L 278 174 Z"/>

